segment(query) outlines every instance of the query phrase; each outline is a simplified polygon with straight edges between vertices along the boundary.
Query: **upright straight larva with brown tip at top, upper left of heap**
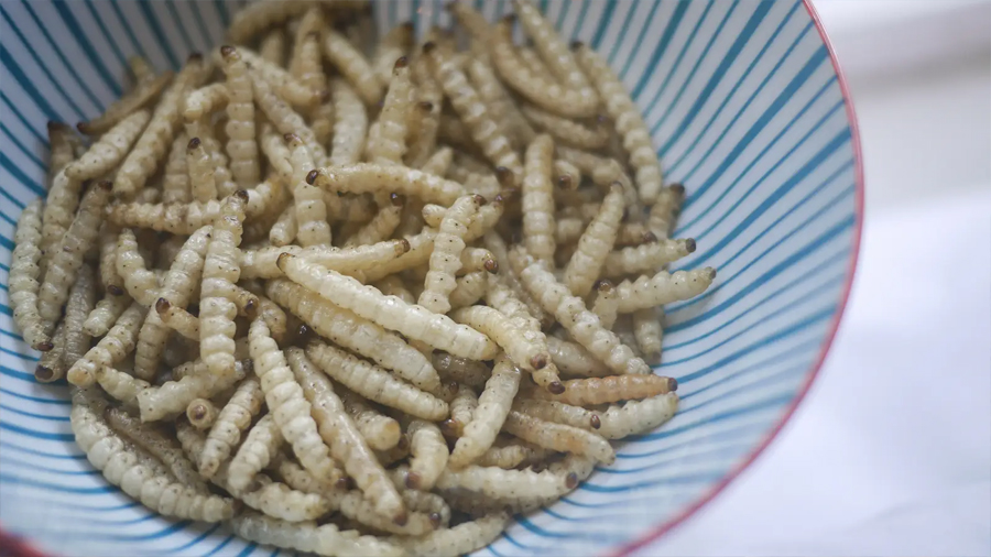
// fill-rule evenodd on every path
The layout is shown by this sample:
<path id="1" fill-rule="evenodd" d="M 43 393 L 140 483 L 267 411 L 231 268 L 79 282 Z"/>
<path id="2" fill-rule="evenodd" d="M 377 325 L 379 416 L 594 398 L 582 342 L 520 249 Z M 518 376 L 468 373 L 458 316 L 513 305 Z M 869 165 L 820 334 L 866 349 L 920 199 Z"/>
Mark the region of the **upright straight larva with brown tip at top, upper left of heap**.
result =
<path id="1" fill-rule="evenodd" d="M 221 46 L 222 69 L 227 76 L 227 154 L 230 172 L 239 187 L 258 184 L 261 171 L 258 164 L 258 143 L 254 131 L 254 91 L 247 62 L 232 46 Z"/>

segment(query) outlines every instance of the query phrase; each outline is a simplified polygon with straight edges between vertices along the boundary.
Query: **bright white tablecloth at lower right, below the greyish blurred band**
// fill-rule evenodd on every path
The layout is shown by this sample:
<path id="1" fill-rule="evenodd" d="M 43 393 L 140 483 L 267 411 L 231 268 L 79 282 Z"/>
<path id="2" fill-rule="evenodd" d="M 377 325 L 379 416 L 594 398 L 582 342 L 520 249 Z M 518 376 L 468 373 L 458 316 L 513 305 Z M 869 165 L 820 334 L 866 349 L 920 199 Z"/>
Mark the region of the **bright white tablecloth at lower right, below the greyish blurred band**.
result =
<path id="1" fill-rule="evenodd" d="M 638 555 L 991 555 L 991 187 L 871 212 L 781 436 Z"/>

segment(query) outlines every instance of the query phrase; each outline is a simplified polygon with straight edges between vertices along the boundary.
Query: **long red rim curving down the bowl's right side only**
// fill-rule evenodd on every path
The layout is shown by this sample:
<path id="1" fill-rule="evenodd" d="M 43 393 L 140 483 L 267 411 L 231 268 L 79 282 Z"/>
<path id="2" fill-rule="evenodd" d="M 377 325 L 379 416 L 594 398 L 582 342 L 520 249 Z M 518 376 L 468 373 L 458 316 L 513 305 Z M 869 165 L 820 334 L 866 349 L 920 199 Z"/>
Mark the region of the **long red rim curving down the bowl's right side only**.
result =
<path id="1" fill-rule="evenodd" d="M 740 462 L 736 468 L 733 468 L 730 473 L 726 474 L 725 478 L 719 480 L 716 485 L 709 490 L 701 499 L 693 503 L 690 506 L 682 511 L 677 516 L 656 527 L 655 529 L 649 532 L 644 536 L 639 539 L 631 542 L 627 545 L 621 546 L 616 551 L 612 551 L 610 555 L 613 557 L 630 555 L 636 549 L 640 549 L 656 539 L 661 538 L 672 529 L 676 528 L 678 525 L 687 521 L 690 516 L 697 513 L 701 507 L 704 507 L 709 501 L 716 499 L 716 495 L 722 492 L 733 480 L 739 477 L 743 470 L 745 470 L 750 465 L 753 463 L 758 457 L 764 452 L 764 449 L 771 445 L 771 443 L 777 437 L 781 430 L 784 428 L 785 424 L 792 418 L 795 409 L 802 404 L 802 401 L 805 398 L 805 395 L 808 394 L 809 389 L 816 380 L 816 376 L 819 374 L 819 370 L 823 368 L 823 362 L 826 361 L 826 356 L 829 353 L 829 349 L 832 347 L 832 341 L 836 338 L 836 331 L 839 329 L 840 321 L 843 317 L 843 312 L 847 309 L 847 303 L 850 299 L 850 288 L 853 286 L 853 275 L 857 271 L 857 259 L 860 254 L 860 237 L 863 229 L 863 153 L 860 150 L 860 130 L 857 125 L 857 114 L 853 111 L 853 99 L 850 96 L 850 88 L 847 84 L 847 79 L 843 76 L 843 70 L 840 68 L 839 61 L 836 56 L 836 51 L 832 48 L 832 43 L 829 42 L 829 36 L 826 33 L 826 29 L 823 26 L 823 22 L 819 20 L 819 14 L 816 12 L 815 7 L 812 4 L 812 0 L 802 0 L 802 3 L 805 6 L 806 11 L 808 12 L 809 18 L 812 18 L 813 23 L 816 25 L 816 30 L 819 32 L 819 36 L 823 39 L 823 44 L 826 45 L 826 51 L 829 53 L 829 61 L 832 63 L 832 68 L 836 72 L 837 80 L 839 81 L 840 92 L 843 96 L 843 105 L 847 109 L 847 120 L 850 123 L 850 136 L 851 143 L 853 145 L 853 179 L 854 179 L 854 223 L 853 223 L 853 244 L 850 255 L 850 270 L 847 273 L 846 284 L 843 285 L 843 292 L 840 295 L 840 306 L 839 310 L 836 313 L 836 316 L 832 318 L 832 324 L 830 325 L 829 332 L 826 335 L 826 341 L 823 343 L 823 349 L 819 351 L 818 358 L 816 358 L 815 364 L 809 369 L 808 376 L 805 379 L 803 385 L 798 389 L 798 393 L 795 395 L 795 398 L 791 402 L 787 409 L 785 409 L 784 415 L 781 417 L 781 421 L 775 424 L 775 426 L 771 429 L 771 433 L 761 441 L 761 444 L 753 450 L 742 462 Z"/>

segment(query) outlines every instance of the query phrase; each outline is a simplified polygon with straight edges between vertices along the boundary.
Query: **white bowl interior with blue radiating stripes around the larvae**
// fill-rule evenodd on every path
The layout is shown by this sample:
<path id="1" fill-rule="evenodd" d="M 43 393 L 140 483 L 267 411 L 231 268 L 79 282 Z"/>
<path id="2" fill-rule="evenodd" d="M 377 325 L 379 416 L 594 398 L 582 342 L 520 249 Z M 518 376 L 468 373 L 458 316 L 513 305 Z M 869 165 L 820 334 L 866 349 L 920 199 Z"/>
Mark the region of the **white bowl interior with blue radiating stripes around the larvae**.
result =
<path id="1" fill-rule="evenodd" d="M 277 553 L 222 526 L 162 518 L 108 485 L 73 443 L 67 386 L 34 382 L 37 354 L 14 330 L 6 286 L 14 222 L 44 192 L 46 121 L 99 113 L 121 94 L 130 54 L 177 68 L 218 44 L 241 3 L 0 2 L 0 523 L 12 553 Z M 476 3 L 490 18 L 509 10 Z M 680 384 L 677 416 L 479 554 L 621 554 L 715 496 L 807 392 L 857 259 L 861 157 L 842 76 L 807 2 L 542 4 L 619 72 L 666 179 L 686 185 L 676 233 L 699 250 L 677 266 L 712 265 L 719 276 L 704 296 L 667 307 L 662 371 Z M 437 1 L 375 8 L 382 26 L 450 22 Z"/>

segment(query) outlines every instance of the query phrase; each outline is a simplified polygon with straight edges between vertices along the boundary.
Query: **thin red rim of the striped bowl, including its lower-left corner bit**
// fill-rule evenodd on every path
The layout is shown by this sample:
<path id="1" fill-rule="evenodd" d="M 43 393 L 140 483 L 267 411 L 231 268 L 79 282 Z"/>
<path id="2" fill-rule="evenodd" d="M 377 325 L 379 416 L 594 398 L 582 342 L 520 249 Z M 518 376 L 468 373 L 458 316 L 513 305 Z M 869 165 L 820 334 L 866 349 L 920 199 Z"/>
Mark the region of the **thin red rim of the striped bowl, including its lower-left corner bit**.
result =
<path id="1" fill-rule="evenodd" d="M 795 415 L 795 411 L 805 400 L 805 396 L 812 389 L 813 383 L 815 383 L 815 380 L 819 375 L 819 372 L 823 369 L 823 364 L 826 361 L 826 357 L 829 354 L 829 350 L 832 348 L 832 342 L 836 340 L 836 334 L 839 330 L 839 326 L 840 323 L 842 323 L 847 305 L 850 302 L 850 291 L 852 290 L 853 278 L 857 274 L 857 263 L 860 256 L 860 242 L 863 233 L 863 151 L 861 150 L 860 128 L 857 121 L 857 112 L 853 108 L 853 97 L 850 95 L 850 85 L 847 83 L 846 75 L 840 67 L 836 48 L 832 46 L 832 42 L 829 40 L 829 34 L 826 32 L 826 28 L 823 25 L 823 20 L 819 19 L 819 13 L 816 11 L 816 8 L 813 6 L 812 1 L 813 0 L 802 0 L 802 4 L 805 7 L 805 10 L 808 13 L 808 17 L 812 19 L 816 31 L 819 33 L 819 37 L 823 40 L 823 44 L 826 46 L 826 52 L 829 54 L 829 62 L 832 64 L 834 72 L 836 72 L 837 83 L 839 84 L 840 92 L 843 97 L 843 108 L 847 112 L 847 122 L 850 125 L 850 138 L 853 149 L 853 234 L 850 250 L 850 262 L 843 283 L 843 288 L 840 293 L 839 307 L 836 312 L 836 315 L 834 315 L 832 317 L 832 323 L 829 326 L 829 331 L 826 334 L 825 341 L 823 342 L 823 347 L 819 350 L 819 354 L 816 358 L 816 361 L 809 368 L 803 384 L 798 387 L 798 392 L 795 394 L 795 397 L 788 403 L 788 406 L 787 408 L 785 408 L 784 414 L 782 414 L 781 419 L 778 419 L 777 423 L 774 424 L 764 439 L 742 461 L 740 461 L 739 465 L 737 465 L 718 482 L 716 482 L 716 484 L 706 494 L 685 507 L 673 518 L 669 518 L 668 521 L 662 523 L 660 526 L 651 529 L 646 534 L 639 536 L 634 540 L 621 545 L 618 549 L 608 553 L 607 555 L 609 555 L 610 557 L 623 557 L 631 555 L 636 549 L 640 549 L 662 538 L 674 528 L 684 524 L 685 521 L 697 514 L 710 501 L 722 493 L 722 491 L 726 490 L 727 487 L 729 487 L 729 484 L 733 482 L 733 480 L 740 477 L 740 474 L 742 474 L 744 470 L 753 465 L 753 462 L 764 452 L 764 450 L 774 441 L 774 439 L 777 438 L 782 429 L 784 429 L 785 425 L 792 419 L 792 417 Z M 45 554 L 35 548 L 31 544 L 31 540 L 29 538 L 6 531 L 2 524 L 0 524 L 0 548 L 3 549 L 3 555 L 9 555 L 10 557 L 53 557 L 52 554 Z"/>

